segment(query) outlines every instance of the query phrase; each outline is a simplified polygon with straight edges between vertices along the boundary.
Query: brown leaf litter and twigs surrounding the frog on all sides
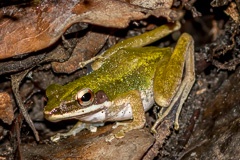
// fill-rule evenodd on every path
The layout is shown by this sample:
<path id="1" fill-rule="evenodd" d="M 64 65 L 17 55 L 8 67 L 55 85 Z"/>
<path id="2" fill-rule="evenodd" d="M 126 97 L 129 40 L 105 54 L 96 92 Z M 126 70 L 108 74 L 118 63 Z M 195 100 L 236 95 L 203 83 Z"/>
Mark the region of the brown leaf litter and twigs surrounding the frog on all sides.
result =
<path id="1" fill-rule="evenodd" d="M 237 0 L 0 2 L 1 159 L 240 159 L 239 11 Z M 80 69 L 79 62 L 176 20 L 181 30 L 156 45 L 174 46 L 183 32 L 195 40 L 197 80 L 179 131 L 172 129 L 171 114 L 155 137 L 150 134 L 154 107 L 146 113 L 146 128 L 111 144 L 104 138 L 115 132 L 112 124 L 58 144 L 48 140 L 75 123 L 44 120 L 49 84 L 85 75 L 88 67 Z"/>

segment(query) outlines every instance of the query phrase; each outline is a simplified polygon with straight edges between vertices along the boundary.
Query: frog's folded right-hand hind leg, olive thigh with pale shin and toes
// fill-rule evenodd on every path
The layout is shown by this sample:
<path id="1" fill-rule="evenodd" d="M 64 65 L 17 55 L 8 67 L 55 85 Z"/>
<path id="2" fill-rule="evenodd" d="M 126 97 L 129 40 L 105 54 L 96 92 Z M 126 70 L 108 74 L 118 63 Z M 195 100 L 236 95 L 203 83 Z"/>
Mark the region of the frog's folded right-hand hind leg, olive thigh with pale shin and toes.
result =
<path id="1" fill-rule="evenodd" d="M 154 77 L 154 99 L 158 105 L 168 108 L 163 113 L 160 112 L 152 132 L 156 132 L 156 127 L 178 101 L 174 128 L 176 130 L 179 128 L 178 118 L 182 105 L 195 81 L 193 43 L 189 34 L 182 34 L 170 59 L 159 63 L 157 67 Z"/>

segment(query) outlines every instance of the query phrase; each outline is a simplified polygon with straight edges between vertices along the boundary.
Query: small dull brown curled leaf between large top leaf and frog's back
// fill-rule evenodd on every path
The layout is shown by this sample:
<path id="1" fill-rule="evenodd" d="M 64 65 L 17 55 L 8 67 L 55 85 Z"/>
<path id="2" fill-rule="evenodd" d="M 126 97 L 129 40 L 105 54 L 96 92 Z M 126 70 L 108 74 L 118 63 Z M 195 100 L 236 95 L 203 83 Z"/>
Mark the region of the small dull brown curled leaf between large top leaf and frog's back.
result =
<path id="1" fill-rule="evenodd" d="M 68 61 L 52 62 L 52 69 L 56 73 L 72 73 L 79 69 L 79 62 L 86 61 L 95 56 L 103 47 L 108 35 L 89 31 L 79 40 Z"/>

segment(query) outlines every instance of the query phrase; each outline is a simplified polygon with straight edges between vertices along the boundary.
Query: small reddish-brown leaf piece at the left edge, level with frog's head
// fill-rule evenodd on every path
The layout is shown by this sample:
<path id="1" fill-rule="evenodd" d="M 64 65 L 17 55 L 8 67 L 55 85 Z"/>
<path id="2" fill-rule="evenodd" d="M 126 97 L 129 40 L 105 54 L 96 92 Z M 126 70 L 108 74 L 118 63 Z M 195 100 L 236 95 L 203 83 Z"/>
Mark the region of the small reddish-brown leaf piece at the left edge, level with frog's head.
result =
<path id="1" fill-rule="evenodd" d="M 6 92 L 0 93 L 0 119 L 9 125 L 14 119 L 11 98 Z"/>

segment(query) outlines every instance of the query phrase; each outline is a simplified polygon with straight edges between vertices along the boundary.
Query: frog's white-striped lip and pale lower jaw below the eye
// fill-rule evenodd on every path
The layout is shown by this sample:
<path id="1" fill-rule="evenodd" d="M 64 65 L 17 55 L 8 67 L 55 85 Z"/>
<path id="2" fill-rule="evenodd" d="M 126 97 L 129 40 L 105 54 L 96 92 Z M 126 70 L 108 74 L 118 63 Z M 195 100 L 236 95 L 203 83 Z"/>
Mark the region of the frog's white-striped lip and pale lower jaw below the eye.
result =
<path id="1" fill-rule="evenodd" d="M 112 105 L 110 101 L 102 104 L 94 104 L 87 108 L 78 109 L 71 112 L 61 113 L 60 108 L 52 111 L 45 111 L 44 116 L 48 121 L 58 122 L 67 119 L 78 119 L 80 121 L 100 122 L 107 116 L 107 109 Z"/>

